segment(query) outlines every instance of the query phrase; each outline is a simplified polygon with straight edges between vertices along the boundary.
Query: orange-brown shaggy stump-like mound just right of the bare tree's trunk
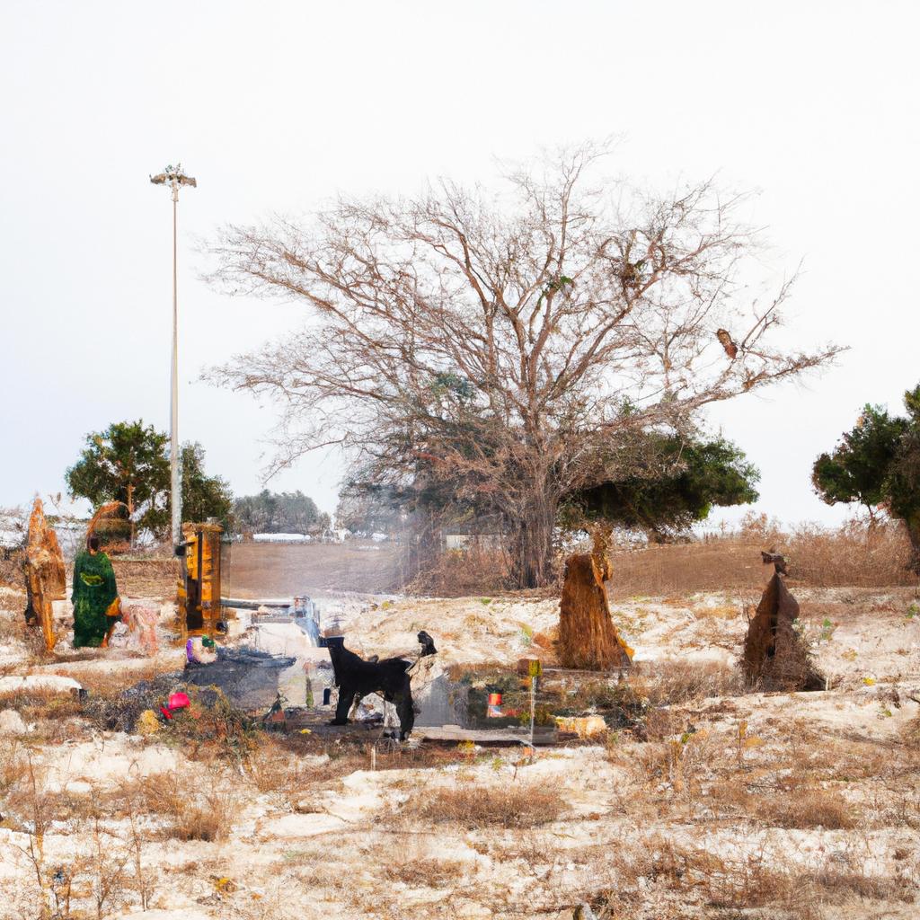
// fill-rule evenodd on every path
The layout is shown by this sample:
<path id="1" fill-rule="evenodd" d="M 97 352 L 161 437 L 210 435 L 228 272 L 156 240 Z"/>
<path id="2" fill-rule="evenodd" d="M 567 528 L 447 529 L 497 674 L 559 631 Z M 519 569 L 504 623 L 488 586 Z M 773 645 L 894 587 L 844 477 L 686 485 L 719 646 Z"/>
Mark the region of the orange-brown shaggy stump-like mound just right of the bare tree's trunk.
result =
<path id="1" fill-rule="evenodd" d="M 604 582 L 611 574 L 600 534 L 594 535 L 591 553 L 576 553 L 567 560 L 557 642 L 559 663 L 564 668 L 609 671 L 631 666 L 632 649 L 616 631 L 607 604 Z"/>

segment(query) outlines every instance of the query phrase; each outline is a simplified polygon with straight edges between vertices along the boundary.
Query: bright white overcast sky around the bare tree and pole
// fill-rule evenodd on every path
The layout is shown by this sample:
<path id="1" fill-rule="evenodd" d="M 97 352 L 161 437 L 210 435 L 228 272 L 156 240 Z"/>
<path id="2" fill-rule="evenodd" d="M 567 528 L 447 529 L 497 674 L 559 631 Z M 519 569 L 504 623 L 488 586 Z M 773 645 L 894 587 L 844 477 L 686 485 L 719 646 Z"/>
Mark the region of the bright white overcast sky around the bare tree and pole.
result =
<path id="1" fill-rule="evenodd" d="M 918 27 L 920 6 L 884 0 L 6 0 L 0 506 L 63 490 L 88 431 L 167 429 L 172 215 L 148 179 L 167 163 L 199 182 L 179 202 L 179 434 L 248 494 L 274 409 L 201 371 L 304 307 L 213 290 L 199 240 L 339 193 L 489 185 L 497 159 L 615 135 L 615 171 L 640 184 L 756 192 L 766 268 L 801 263 L 786 334 L 849 351 L 707 421 L 760 467 L 757 512 L 842 520 L 811 490 L 814 457 L 920 380 Z M 342 472 L 314 454 L 269 485 L 332 512 Z"/>

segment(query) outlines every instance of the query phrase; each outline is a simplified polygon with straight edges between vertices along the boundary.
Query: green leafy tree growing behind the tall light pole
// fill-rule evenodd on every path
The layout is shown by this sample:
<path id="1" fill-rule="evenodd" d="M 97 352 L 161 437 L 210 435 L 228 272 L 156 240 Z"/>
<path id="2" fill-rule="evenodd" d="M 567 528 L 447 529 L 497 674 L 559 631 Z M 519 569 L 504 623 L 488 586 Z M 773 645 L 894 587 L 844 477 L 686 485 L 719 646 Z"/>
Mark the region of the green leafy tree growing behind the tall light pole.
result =
<path id="1" fill-rule="evenodd" d="M 114 422 L 105 431 L 87 434 L 80 459 L 64 475 L 67 489 L 94 506 L 123 501 L 134 534 L 147 531 L 164 539 L 170 520 L 168 443 L 166 433 L 144 420 Z M 232 529 L 233 495 L 224 479 L 204 473 L 201 444 L 183 444 L 179 458 L 183 518 L 215 517 Z"/>

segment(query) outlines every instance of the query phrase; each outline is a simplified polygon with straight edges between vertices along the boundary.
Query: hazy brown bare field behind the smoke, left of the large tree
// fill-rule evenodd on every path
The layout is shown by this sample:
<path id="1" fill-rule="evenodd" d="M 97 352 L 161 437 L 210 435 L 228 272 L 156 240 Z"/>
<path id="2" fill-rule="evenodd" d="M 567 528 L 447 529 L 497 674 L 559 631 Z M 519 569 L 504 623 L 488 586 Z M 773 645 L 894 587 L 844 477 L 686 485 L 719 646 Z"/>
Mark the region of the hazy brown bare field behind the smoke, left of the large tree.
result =
<path id="1" fill-rule="evenodd" d="M 224 549 L 227 597 L 287 597 L 328 592 L 386 593 L 401 582 L 392 543 L 241 543 Z"/>

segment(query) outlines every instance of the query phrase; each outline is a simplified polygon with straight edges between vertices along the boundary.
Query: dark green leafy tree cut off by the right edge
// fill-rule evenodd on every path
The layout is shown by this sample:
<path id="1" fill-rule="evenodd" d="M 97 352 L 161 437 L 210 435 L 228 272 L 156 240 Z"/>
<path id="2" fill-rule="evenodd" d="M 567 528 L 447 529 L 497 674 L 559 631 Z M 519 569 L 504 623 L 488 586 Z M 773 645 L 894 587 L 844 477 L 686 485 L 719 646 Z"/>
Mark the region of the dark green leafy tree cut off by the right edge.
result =
<path id="1" fill-rule="evenodd" d="M 811 482 L 827 504 L 858 502 L 903 521 L 911 569 L 920 574 L 920 386 L 904 394 L 906 416 L 867 405 L 851 431 L 811 468 Z"/>

